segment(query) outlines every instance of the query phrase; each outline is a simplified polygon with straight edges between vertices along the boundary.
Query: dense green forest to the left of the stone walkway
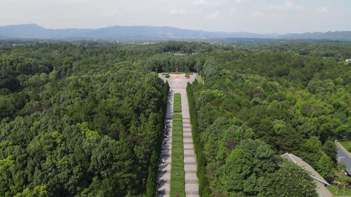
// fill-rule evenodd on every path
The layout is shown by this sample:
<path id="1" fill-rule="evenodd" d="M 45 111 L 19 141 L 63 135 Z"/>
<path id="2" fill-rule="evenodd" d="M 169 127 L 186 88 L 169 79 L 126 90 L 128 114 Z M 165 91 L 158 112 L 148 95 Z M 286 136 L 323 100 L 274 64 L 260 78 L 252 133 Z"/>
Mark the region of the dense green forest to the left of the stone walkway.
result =
<path id="1" fill-rule="evenodd" d="M 145 193 L 168 89 L 118 53 L 2 49 L 0 196 Z"/>

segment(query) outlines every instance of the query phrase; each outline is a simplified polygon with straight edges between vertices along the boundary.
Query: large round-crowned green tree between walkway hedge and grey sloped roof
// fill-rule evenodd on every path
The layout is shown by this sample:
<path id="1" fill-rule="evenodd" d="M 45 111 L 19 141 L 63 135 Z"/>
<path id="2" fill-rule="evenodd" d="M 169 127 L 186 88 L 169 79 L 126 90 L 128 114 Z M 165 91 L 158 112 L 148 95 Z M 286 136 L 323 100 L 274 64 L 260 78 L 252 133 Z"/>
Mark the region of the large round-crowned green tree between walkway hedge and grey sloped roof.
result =
<path id="1" fill-rule="evenodd" d="M 264 190 L 265 177 L 277 168 L 274 152 L 267 144 L 259 140 L 243 140 L 232 150 L 223 166 L 221 185 L 228 194 L 256 196 Z"/>

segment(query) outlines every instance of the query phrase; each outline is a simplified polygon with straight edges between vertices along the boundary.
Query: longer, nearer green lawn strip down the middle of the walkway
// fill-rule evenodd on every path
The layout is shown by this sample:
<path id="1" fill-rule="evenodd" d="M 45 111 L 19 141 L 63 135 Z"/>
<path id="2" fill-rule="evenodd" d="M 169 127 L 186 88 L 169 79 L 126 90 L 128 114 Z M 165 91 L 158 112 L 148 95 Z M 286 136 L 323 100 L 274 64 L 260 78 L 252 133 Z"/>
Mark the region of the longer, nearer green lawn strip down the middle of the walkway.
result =
<path id="1" fill-rule="evenodd" d="M 185 173 L 183 158 L 184 152 L 182 115 L 173 114 L 170 196 L 175 196 L 178 194 L 180 197 L 185 197 Z M 177 172 L 179 173 L 178 176 Z"/>

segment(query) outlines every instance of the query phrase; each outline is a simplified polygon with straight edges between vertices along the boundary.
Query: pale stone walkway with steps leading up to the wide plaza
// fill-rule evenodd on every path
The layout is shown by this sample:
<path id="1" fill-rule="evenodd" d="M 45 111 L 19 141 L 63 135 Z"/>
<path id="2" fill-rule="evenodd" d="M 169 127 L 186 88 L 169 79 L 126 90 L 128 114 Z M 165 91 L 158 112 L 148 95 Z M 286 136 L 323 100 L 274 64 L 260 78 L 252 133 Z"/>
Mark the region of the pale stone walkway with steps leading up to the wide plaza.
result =
<path id="1" fill-rule="evenodd" d="M 194 152 L 194 146 L 192 142 L 192 134 L 191 134 L 191 126 L 190 126 L 190 115 L 189 115 L 189 104 L 188 104 L 188 96 L 186 93 L 186 85 L 187 82 L 193 82 L 196 78 L 196 74 L 191 75 L 190 79 L 185 79 L 184 74 L 180 75 L 179 78 L 175 78 L 174 75 L 171 74 L 169 79 L 164 78 L 161 74 L 159 77 L 163 80 L 168 80 L 170 85 L 170 89 L 174 91 L 174 93 L 180 93 L 182 95 L 182 116 L 183 116 L 183 148 L 184 148 L 184 171 L 185 171 L 185 195 L 186 197 L 199 197 L 199 184 L 197 177 L 197 162 L 196 155 Z M 171 118 L 172 117 L 172 106 L 173 106 L 173 97 L 171 97 L 171 102 L 167 104 L 167 112 L 166 112 L 166 120 L 169 122 L 168 126 L 170 126 L 170 139 L 171 139 Z M 171 152 L 171 140 L 166 144 L 168 149 L 165 149 L 163 152 L 169 155 Z M 167 158 L 167 159 L 168 159 Z M 171 197 L 169 196 L 170 190 L 170 165 L 169 163 L 161 164 L 159 168 L 167 169 L 166 172 L 159 172 L 159 181 L 165 180 L 168 181 L 164 185 L 158 187 L 160 191 L 160 197 Z"/>

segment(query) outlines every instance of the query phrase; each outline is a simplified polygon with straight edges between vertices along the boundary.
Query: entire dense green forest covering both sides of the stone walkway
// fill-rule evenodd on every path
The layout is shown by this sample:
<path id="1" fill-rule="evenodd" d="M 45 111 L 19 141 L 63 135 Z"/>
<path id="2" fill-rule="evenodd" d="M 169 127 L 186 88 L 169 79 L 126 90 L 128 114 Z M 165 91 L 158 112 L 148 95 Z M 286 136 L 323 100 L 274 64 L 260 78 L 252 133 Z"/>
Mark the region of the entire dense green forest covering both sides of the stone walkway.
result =
<path id="1" fill-rule="evenodd" d="M 175 68 L 205 78 L 189 88 L 206 195 L 317 196 L 279 155 L 334 180 L 333 141 L 351 137 L 349 58 L 346 42 L 6 45 L 0 196 L 152 196 L 168 92 L 154 71 Z"/>

